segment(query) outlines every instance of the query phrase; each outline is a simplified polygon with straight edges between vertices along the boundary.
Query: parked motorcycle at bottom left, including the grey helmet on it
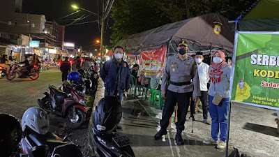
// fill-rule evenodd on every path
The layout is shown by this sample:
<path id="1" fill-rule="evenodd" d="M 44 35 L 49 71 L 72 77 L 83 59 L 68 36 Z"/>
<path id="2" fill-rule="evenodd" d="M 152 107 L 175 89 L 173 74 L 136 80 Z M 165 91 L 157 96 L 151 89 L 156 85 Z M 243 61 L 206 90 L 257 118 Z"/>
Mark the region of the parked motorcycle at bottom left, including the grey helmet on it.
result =
<path id="1" fill-rule="evenodd" d="M 50 120 L 45 110 L 40 107 L 31 107 L 24 112 L 20 140 L 22 152 L 28 154 L 29 157 L 35 157 L 37 154 L 61 157 L 82 156 L 80 149 L 68 139 L 68 136 L 61 139 L 54 133 L 50 133 L 49 129 Z"/>

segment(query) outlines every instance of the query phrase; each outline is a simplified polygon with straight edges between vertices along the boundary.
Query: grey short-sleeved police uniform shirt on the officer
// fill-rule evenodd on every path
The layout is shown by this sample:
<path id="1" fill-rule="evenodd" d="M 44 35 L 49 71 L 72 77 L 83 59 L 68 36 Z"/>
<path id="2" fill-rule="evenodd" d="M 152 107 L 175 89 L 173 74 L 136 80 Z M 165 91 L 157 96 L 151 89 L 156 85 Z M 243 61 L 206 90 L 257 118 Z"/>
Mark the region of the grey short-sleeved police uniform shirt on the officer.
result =
<path id="1" fill-rule="evenodd" d="M 193 57 L 186 57 L 182 61 L 178 55 L 169 57 L 164 70 L 161 91 L 166 91 L 166 89 L 176 93 L 193 91 L 193 96 L 200 96 L 198 77 L 195 77 L 196 73 L 197 65 Z M 171 82 L 190 82 L 193 80 L 193 83 L 182 86 L 169 84 L 167 87 L 168 80 Z"/>

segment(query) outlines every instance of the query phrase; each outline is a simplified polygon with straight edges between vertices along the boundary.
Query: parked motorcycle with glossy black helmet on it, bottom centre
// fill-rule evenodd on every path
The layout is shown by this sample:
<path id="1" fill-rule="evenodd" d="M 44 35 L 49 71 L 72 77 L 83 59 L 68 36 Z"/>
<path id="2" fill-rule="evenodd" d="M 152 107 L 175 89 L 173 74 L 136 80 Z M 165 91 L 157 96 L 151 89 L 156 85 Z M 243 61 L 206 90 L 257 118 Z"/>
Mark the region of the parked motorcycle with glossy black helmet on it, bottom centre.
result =
<path id="1" fill-rule="evenodd" d="M 122 117 L 122 107 L 118 98 L 106 96 L 93 110 L 89 122 L 89 147 L 93 156 L 133 157 L 130 140 L 114 133 Z"/>

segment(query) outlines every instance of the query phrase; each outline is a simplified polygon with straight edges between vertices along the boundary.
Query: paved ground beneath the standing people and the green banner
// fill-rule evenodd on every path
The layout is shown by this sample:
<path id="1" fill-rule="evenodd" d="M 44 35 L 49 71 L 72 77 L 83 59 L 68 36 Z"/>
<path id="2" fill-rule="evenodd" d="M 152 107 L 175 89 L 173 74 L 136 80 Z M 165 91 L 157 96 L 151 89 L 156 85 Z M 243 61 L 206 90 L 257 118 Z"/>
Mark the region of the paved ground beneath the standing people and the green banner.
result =
<path id="1" fill-rule="evenodd" d="M 101 81 L 100 81 L 101 82 Z M 103 98 L 103 82 L 99 85 L 94 104 Z M 137 119 L 142 112 L 141 119 Z M 188 112 L 187 119 L 190 116 Z M 162 117 L 162 110 L 148 106 L 141 99 L 126 99 L 123 101 L 123 119 L 117 130 L 126 135 L 130 141 L 135 156 L 225 156 L 225 150 L 216 149 L 215 145 L 206 145 L 202 141 L 211 135 L 211 126 L 202 123 L 202 114 L 195 114 L 194 130 L 192 121 L 186 121 L 183 139 L 186 144 L 178 146 L 174 142 L 176 127 L 172 121 L 172 128 L 168 130 L 163 140 L 153 140 L 153 135 L 159 129 L 158 122 Z M 229 153 L 233 147 L 241 154 L 248 156 L 279 156 L 279 135 L 274 121 L 276 111 L 266 110 L 248 105 L 232 105 L 231 129 L 229 133 Z M 173 115 L 174 119 L 174 115 Z M 209 119 L 211 123 L 211 119 Z"/>

